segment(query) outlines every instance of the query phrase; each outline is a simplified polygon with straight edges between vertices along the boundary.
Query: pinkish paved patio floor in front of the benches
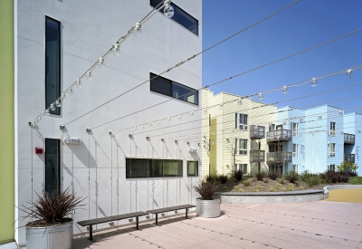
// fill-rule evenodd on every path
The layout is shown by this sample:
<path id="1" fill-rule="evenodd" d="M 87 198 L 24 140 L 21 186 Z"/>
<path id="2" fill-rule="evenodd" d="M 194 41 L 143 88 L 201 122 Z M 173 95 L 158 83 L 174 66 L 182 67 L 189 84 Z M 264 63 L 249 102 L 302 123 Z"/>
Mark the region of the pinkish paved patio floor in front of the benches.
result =
<path id="1" fill-rule="evenodd" d="M 359 248 L 362 204 L 222 205 L 223 215 L 205 219 L 195 213 L 95 233 L 96 242 L 74 240 L 83 248 Z"/>

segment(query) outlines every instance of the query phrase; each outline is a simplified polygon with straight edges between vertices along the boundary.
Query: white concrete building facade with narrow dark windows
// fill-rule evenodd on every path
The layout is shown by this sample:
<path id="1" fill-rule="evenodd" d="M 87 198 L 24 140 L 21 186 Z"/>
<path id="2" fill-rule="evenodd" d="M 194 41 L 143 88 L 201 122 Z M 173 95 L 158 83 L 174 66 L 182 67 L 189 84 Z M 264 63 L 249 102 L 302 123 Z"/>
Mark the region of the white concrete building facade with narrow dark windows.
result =
<path id="1" fill-rule="evenodd" d="M 194 90 L 202 85 L 202 57 L 165 73 L 154 85 L 148 80 L 201 51 L 201 0 L 173 1 L 174 19 L 154 14 L 142 24 L 140 37 L 131 35 L 120 44 L 119 56 L 110 54 L 104 68 L 92 71 L 91 81 L 81 79 L 81 88 L 66 94 L 60 109 L 52 111 L 59 114 L 28 125 L 48 106 L 47 98 L 55 101 L 158 2 L 14 1 L 16 206 L 35 201 L 43 187 L 70 187 L 86 197 L 75 221 L 195 204 L 201 148 L 187 135 L 201 133 L 195 121 L 201 112 L 190 113 L 201 108 Z M 55 43 L 50 29 L 59 32 L 52 36 Z M 54 46 L 59 49 L 55 61 Z M 82 142 L 66 144 L 66 138 Z M 18 244 L 25 244 L 22 226 L 28 220 L 22 216 L 15 209 Z M 85 228 L 74 223 L 73 230 Z"/>

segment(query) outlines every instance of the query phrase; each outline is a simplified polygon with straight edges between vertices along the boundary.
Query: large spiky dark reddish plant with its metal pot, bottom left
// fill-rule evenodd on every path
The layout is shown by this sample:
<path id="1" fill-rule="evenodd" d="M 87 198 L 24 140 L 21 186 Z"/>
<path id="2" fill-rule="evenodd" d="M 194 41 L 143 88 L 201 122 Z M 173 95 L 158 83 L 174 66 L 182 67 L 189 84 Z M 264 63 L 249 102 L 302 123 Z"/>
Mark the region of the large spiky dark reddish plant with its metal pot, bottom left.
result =
<path id="1" fill-rule="evenodd" d="M 43 189 L 42 196 L 30 206 L 19 208 L 32 218 L 25 225 L 27 249 L 69 249 L 72 248 L 73 212 L 85 199 L 71 194 L 69 187 L 62 193 L 50 194 Z"/>

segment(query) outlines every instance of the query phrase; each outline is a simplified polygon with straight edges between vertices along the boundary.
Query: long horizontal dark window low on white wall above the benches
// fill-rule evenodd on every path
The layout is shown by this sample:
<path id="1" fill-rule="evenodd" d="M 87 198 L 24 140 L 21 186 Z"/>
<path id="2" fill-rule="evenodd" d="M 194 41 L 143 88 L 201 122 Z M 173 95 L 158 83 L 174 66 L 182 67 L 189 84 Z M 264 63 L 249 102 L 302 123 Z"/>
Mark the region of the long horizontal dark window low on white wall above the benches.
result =
<path id="1" fill-rule="evenodd" d="M 126 178 L 182 177 L 182 160 L 126 158 Z"/>

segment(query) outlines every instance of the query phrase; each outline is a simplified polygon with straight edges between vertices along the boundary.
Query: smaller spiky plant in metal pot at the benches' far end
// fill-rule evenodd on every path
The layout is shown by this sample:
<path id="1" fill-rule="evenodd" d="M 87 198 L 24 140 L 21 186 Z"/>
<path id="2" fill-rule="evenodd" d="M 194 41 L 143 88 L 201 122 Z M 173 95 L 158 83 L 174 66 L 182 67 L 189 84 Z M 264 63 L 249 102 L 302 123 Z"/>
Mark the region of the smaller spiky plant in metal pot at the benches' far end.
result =
<path id="1" fill-rule="evenodd" d="M 220 198 L 214 196 L 217 185 L 201 181 L 194 189 L 201 196 L 196 199 L 196 215 L 204 218 L 220 216 Z"/>

